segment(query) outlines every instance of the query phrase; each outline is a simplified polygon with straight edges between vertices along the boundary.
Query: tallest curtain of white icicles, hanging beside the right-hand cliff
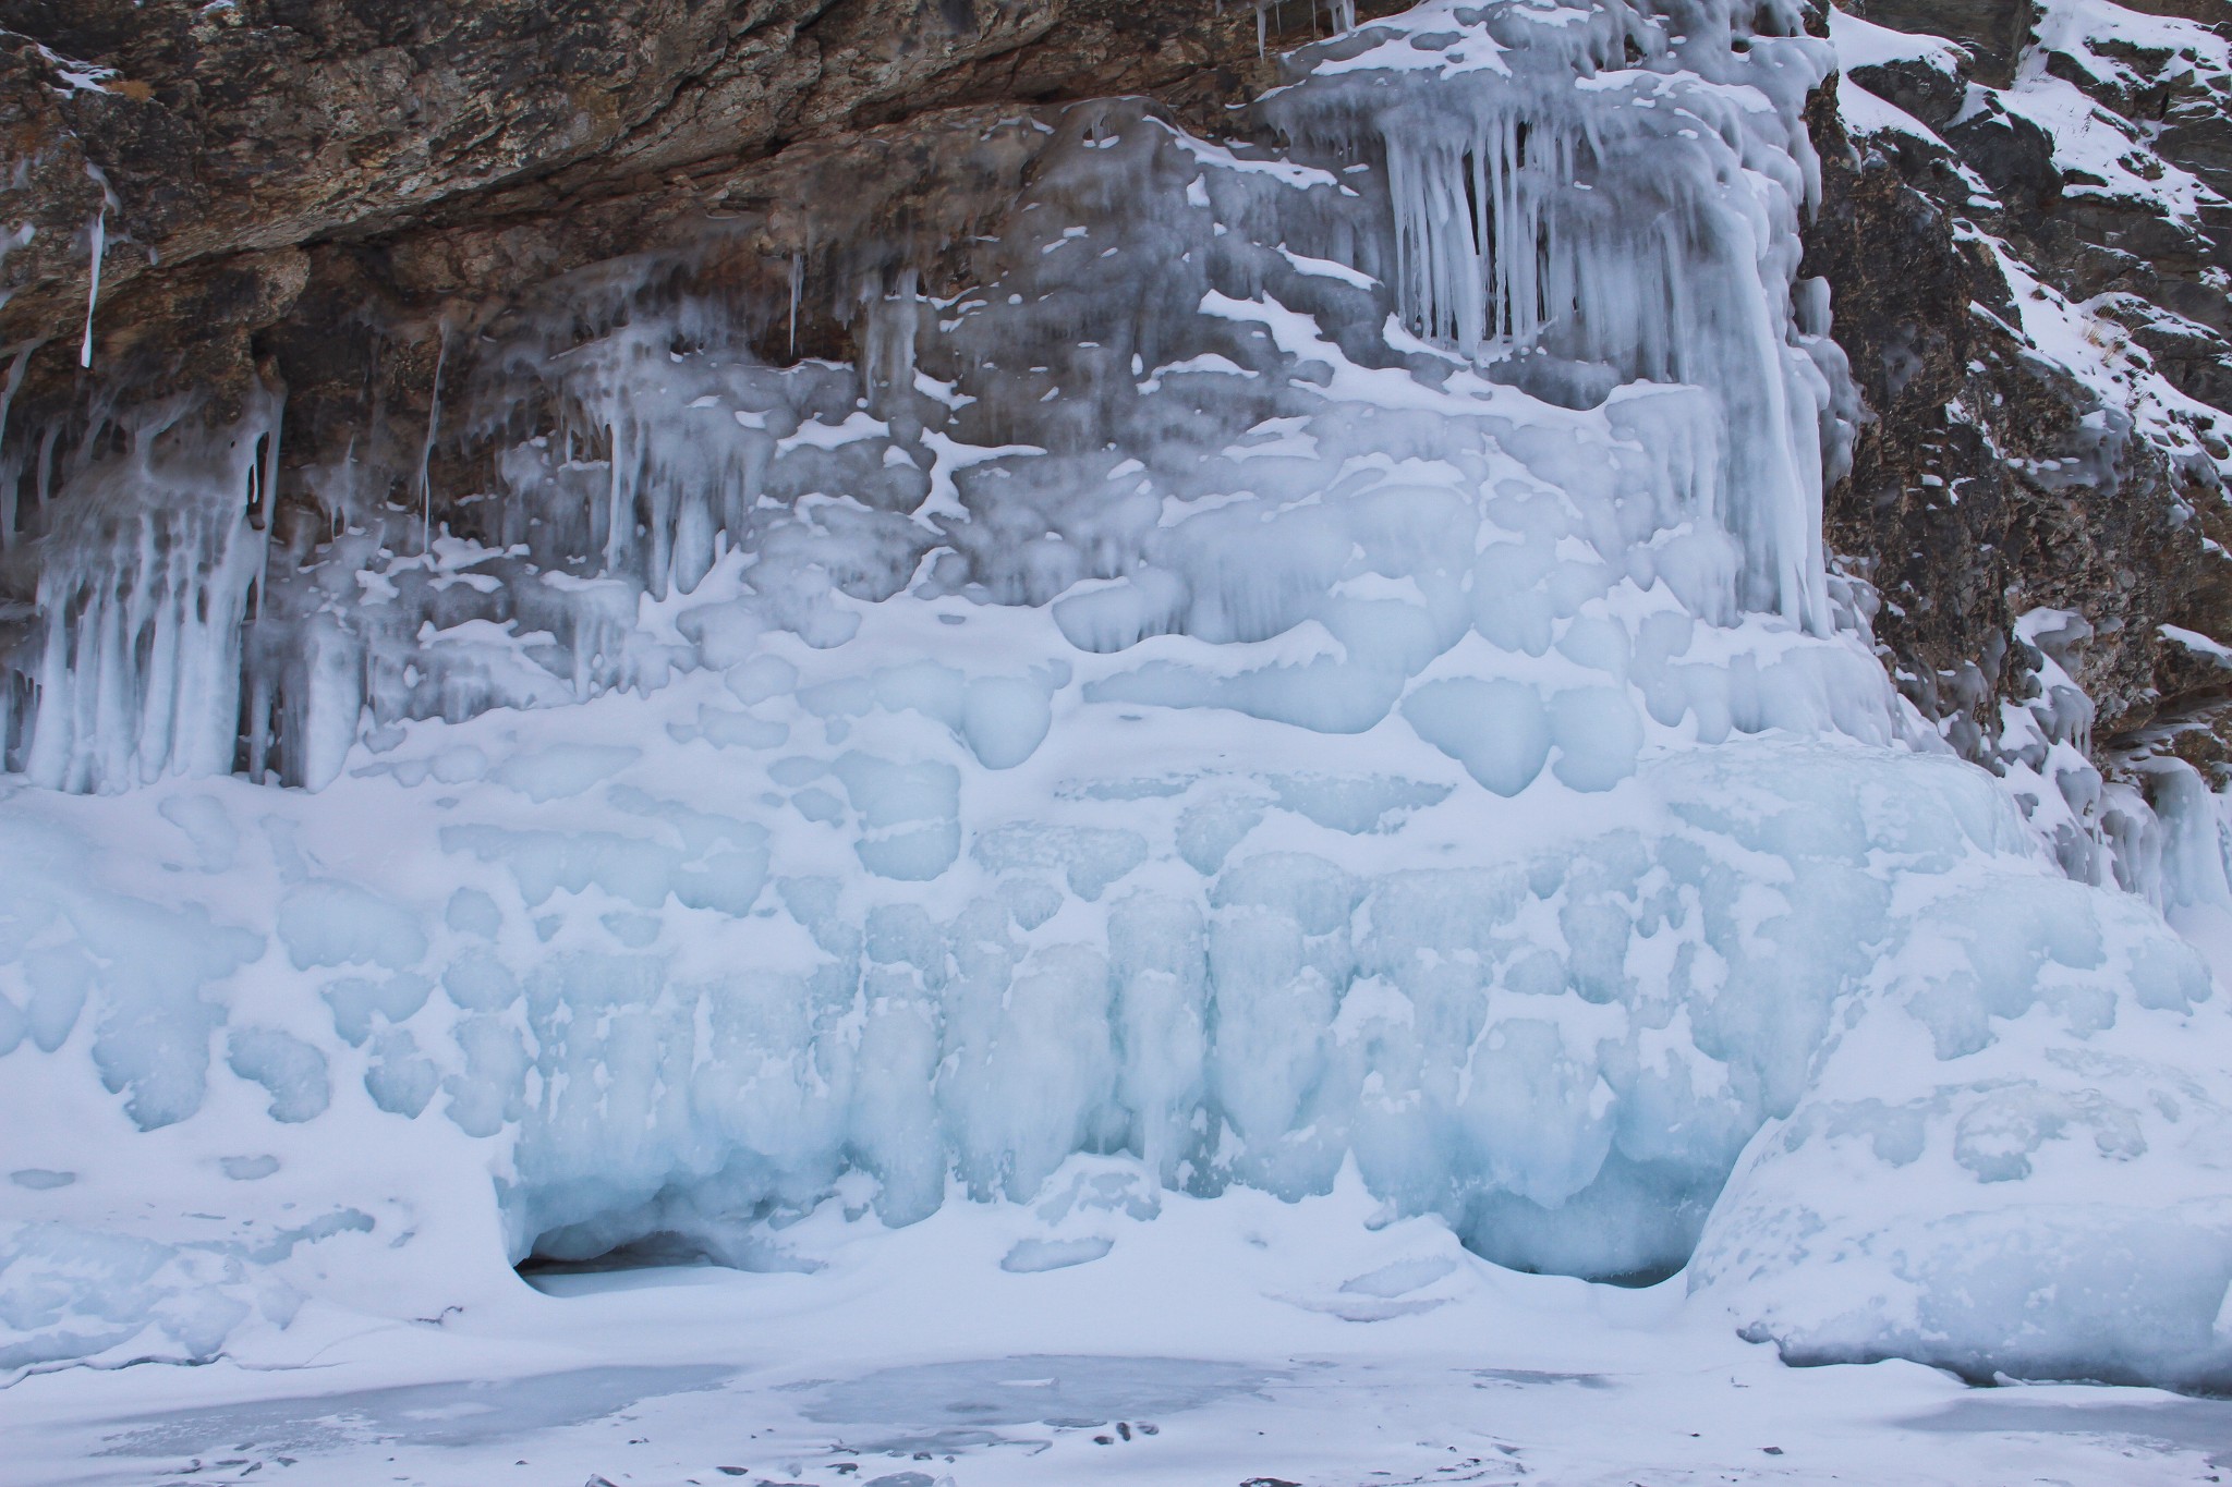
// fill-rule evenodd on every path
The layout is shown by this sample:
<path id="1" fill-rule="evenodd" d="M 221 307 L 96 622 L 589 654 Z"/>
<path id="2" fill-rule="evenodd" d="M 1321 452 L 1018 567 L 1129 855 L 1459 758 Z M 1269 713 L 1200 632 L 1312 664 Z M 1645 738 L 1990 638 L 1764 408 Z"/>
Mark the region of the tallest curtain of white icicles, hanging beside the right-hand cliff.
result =
<path id="1" fill-rule="evenodd" d="M 1466 29 L 1420 7 L 1270 114 L 1301 143 L 1386 161 L 1415 332 L 1556 401 L 1636 379 L 1705 388 L 1741 602 L 1821 631 L 1835 346 L 1795 323 L 1792 276 L 1817 174 L 1801 109 L 1830 56 L 1795 25 L 1739 54 L 1719 11 L 1676 11 L 1495 7 Z"/>

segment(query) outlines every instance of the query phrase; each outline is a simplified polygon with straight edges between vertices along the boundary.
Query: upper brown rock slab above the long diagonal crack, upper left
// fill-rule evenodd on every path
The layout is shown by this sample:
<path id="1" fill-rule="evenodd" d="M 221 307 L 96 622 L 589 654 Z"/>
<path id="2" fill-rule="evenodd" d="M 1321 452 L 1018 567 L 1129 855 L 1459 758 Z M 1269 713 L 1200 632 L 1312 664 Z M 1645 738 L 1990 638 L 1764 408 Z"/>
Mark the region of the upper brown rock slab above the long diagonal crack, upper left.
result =
<path id="1" fill-rule="evenodd" d="M 1192 11 L 22 0 L 0 7 L 0 25 L 13 33 L 11 123 L 42 172 L 25 187 L 54 203 L 74 169 L 100 169 L 112 234 L 138 250 L 107 268 L 125 288 L 150 254 L 183 265 L 393 234 L 442 210 L 551 210 L 958 103 L 1230 94 L 1239 80 L 1214 62 L 1239 60 L 1237 20 Z M 60 196 L 74 227 L 98 205 L 92 183 Z M 13 323 L 83 285 L 83 252 L 69 256 L 42 243 L 9 265 L 29 301 Z"/>

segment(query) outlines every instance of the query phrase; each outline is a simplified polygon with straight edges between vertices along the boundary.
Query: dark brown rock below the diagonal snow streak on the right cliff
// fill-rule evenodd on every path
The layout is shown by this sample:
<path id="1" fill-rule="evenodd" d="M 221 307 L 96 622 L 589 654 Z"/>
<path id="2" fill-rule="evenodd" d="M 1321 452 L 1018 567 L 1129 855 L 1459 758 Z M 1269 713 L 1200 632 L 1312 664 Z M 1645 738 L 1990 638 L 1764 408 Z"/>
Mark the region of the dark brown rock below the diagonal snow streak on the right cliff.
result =
<path id="1" fill-rule="evenodd" d="M 1806 268 L 1837 290 L 1837 341 L 1873 415 L 1830 495 L 1830 546 L 1879 586 L 1902 687 L 1933 716 L 1969 713 L 1971 747 L 1993 731 L 2002 678 L 2020 691 L 2000 658 L 2036 606 L 2100 631 L 2080 680 L 2114 731 L 2165 691 L 2154 624 L 2207 631 L 2232 597 L 2203 546 L 2232 524 L 2199 475 L 2022 343 L 1991 254 L 1913 185 L 1931 169 L 1882 152 L 1826 167 Z"/>

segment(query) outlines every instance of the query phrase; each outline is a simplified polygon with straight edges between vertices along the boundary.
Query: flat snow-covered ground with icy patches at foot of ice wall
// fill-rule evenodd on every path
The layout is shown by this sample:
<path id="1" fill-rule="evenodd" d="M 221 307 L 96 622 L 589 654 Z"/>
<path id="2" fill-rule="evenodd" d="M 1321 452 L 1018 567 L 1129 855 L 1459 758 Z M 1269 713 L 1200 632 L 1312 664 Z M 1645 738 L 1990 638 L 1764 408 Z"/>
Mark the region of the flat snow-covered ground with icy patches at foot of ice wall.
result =
<path id="1" fill-rule="evenodd" d="M 442 1320 L 312 1329 L 283 1369 L 33 1376 L 0 1391 L 0 1480 L 2152 1487 L 2232 1465 L 2232 1402 L 1790 1369 L 1681 1282 L 1518 1275 L 1433 1222 L 1368 1231 L 1370 1208 L 1353 1182 L 1165 1197 L 1109 1222 L 1100 1260 L 1009 1273 L 1045 1222 L 953 1204 L 833 1226 L 817 1275 L 545 1275 Z"/>

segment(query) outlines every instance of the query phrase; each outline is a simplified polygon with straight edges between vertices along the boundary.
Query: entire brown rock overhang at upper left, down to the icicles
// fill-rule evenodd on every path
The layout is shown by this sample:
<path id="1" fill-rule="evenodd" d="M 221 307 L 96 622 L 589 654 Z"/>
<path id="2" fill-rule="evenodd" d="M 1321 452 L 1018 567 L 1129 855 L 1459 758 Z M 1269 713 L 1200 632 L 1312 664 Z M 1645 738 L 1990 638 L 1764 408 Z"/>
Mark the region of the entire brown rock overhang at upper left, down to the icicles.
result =
<path id="1" fill-rule="evenodd" d="M 1178 0 L 9 0 L 0 337 L 45 341 L 29 406 L 74 397 L 98 232 L 96 363 L 223 404 L 306 288 L 319 314 L 371 294 L 353 319 L 487 299 L 750 196 L 799 147 L 859 143 L 833 192 L 888 194 L 888 127 L 971 105 L 1216 114 L 1263 71 L 1252 29 Z"/>

